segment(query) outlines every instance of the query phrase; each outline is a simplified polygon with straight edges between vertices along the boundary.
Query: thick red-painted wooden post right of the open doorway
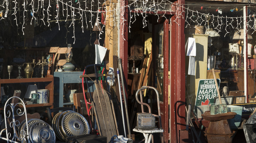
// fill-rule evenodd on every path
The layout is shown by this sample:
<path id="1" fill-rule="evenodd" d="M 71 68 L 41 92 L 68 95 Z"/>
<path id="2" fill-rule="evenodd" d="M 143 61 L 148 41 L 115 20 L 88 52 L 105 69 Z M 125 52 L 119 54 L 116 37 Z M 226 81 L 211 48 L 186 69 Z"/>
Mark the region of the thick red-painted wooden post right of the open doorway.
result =
<path id="1" fill-rule="evenodd" d="M 175 3 L 184 4 L 185 0 L 178 0 Z M 182 15 L 184 17 L 184 12 Z M 172 16 L 170 38 L 170 142 L 179 142 L 179 130 L 185 129 L 184 24 L 184 19 L 176 19 L 176 15 Z"/>

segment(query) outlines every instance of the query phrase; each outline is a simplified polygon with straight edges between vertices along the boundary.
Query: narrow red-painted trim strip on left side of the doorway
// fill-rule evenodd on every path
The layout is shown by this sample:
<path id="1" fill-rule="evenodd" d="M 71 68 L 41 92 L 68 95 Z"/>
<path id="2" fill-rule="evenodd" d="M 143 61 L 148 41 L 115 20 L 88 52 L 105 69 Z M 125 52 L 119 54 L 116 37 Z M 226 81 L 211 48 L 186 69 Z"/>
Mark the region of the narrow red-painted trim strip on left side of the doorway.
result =
<path id="1" fill-rule="evenodd" d="M 127 94 L 127 81 L 128 81 L 128 8 L 125 7 L 128 5 L 128 0 L 122 0 L 120 7 L 120 53 L 119 58 L 122 59 L 122 66 L 123 66 L 123 76 L 124 76 L 124 87 L 126 98 Z"/>

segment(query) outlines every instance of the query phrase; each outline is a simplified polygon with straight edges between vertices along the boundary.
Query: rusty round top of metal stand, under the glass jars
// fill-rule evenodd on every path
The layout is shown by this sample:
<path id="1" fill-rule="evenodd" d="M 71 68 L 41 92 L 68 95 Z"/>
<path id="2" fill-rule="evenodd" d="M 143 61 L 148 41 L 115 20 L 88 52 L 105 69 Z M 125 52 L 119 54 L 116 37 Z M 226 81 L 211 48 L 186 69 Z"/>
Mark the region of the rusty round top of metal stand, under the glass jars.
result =
<path id="1" fill-rule="evenodd" d="M 235 112 L 227 112 L 222 114 L 216 114 L 211 115 L 210 111 L 205 111 L 205 113 L 202 114 L 203 119 L 208 121 L 219 121 L 224 119 L 233 119 L 236 116 Z"/>

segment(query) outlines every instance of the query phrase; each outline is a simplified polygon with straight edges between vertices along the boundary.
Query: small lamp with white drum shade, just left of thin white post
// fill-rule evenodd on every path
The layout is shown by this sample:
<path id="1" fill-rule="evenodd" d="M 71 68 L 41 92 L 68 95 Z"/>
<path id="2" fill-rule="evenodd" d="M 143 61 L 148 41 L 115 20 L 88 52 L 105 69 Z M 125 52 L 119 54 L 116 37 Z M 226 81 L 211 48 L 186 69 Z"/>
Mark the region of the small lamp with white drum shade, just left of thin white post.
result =
<path id="1" fill-rule="evenodd" d="M 229 43 L 228 45 L 229 45 L 228 54 L 232 55 L 231 69 L 237 69 L 237 54 L 240 54 L 239 45 L 238 45 L 238 43 Z M 236 61 L 235 61 L 235 58 L 236 58 Z M 235 64 L 235 62 L 236 62 L 236 64 Z"/>

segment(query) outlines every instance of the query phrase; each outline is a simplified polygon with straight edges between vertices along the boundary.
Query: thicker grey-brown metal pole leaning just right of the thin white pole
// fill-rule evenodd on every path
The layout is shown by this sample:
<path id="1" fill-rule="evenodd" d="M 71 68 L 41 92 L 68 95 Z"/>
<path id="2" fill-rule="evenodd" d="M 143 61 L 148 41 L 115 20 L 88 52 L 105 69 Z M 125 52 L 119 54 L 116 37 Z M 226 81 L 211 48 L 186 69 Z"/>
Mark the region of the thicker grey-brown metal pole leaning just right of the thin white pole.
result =
<path id="1" fill-rule="evenodd" d="M 120 68 L 120 77 L 121 77 L 121 82 L 122 82 L 122 87 L 123 87 L 123 101 L 124 101 L 124 107 L 125 107 L 125 113 L 126 113 L 126 119 L 127 119 L 127 128 L 128 128 L 128 138 L 131 137 L 131 129 L 130 129 L 130 124 L 129 124 L 129 117 L 128 117 L 128 109 L 127 109 L 127 102 L 126 102 L 126 94 L 125 94 L 125 88 L 124 88 L 124 82 L 123 82 L 123 70 L 122 70 L 122 59 L 118 58 L 118 65 Z"/>

